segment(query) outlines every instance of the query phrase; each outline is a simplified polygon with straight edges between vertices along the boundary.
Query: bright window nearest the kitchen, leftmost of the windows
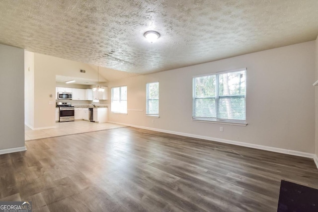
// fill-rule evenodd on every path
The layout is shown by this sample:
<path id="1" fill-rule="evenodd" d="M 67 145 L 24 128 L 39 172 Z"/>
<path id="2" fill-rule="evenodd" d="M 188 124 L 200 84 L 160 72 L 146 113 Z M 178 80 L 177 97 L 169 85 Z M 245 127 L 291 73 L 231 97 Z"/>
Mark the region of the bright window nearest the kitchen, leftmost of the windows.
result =
<path id="1" fill-rule="evenodd" d="M 111 112 L 127 114 L 127 86 L 111 88 Z"/>

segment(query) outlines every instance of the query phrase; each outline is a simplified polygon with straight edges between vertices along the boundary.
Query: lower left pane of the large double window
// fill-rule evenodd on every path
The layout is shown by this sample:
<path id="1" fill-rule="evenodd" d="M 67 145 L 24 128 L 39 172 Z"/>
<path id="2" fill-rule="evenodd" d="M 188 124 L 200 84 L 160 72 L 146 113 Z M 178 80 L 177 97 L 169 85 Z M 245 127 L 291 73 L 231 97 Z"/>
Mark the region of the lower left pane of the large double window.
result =
<path id="1" fill-rule="evenodd" d="M 216 118 L 215 99 L 194 99 L 193 117 Z"/>

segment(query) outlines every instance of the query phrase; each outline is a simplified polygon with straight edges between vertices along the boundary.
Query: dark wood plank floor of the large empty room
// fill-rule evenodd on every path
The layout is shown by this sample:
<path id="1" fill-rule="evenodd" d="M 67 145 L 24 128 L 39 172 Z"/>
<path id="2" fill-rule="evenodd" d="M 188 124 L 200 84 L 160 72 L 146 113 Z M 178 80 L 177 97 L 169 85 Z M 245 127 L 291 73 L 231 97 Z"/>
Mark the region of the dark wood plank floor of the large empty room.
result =
<path id="1" fill-rule="evenodd" d="M 313 159 L 119 128 L 0 155 L 0 201 L 33 212 L 276 212 L 282 179 L 318 189 Z"/>

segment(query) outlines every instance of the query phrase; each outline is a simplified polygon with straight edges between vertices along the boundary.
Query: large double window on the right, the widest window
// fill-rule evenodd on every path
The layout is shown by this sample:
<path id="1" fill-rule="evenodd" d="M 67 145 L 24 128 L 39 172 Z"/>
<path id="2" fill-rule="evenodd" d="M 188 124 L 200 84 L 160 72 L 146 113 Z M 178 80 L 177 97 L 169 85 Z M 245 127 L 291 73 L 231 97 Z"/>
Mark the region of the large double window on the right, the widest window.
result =
<path id="1" fill-rule="evenodd" d="M 246 69 L 193 78 L 194 120 L 245 123 Z"/>

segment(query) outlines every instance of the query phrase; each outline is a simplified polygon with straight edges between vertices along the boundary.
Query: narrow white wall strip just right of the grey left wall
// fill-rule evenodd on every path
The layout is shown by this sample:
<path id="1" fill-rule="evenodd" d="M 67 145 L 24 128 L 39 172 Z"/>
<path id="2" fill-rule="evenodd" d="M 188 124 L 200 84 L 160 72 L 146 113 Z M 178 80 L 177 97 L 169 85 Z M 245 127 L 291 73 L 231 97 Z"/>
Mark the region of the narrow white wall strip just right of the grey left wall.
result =
<path id="1" fill-rule="evenodd" d="M 34 53 L 24 51 L 24 123 L 34 126 Z"/>

